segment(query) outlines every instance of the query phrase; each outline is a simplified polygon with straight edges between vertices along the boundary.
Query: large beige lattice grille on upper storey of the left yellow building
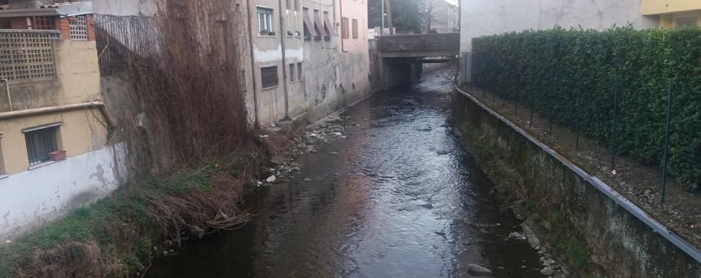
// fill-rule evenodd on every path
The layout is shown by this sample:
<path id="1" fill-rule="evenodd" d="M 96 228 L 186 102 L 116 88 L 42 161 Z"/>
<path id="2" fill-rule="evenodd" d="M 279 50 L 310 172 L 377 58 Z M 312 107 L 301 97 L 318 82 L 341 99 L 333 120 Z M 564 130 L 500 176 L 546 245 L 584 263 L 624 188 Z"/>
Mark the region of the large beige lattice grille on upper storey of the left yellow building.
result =
<path id="1" fill-rule="evenodd" d="M 52 41 L 58 32 L 0 32 L 0 78 L 10 82 L 55 78 Z"/>

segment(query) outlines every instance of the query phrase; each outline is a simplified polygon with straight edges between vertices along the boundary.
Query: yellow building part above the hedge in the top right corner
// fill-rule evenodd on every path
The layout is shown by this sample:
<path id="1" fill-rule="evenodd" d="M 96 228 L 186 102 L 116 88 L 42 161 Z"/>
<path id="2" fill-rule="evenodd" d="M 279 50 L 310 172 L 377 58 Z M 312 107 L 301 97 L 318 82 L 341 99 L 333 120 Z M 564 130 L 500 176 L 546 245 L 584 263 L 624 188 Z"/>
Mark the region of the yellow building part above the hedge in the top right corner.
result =
<path id="1" fill-rule="evenodd" d="M 643 15 L 658 15 L 660 27 L 701 26 L 699 0 L 642 0 Z"/>

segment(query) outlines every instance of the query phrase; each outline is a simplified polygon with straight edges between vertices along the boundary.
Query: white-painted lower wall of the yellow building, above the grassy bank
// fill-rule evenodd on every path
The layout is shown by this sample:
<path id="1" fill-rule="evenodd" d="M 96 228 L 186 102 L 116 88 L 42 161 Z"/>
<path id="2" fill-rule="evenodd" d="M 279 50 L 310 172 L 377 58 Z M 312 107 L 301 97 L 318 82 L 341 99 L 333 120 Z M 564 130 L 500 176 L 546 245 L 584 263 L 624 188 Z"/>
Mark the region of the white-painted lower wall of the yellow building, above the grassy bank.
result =
<path id="1" fill-rule="evenodd" d="M 0 239 L 105 197 L 125 172 L 122 144 L 0 179 Z"/>

